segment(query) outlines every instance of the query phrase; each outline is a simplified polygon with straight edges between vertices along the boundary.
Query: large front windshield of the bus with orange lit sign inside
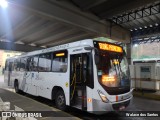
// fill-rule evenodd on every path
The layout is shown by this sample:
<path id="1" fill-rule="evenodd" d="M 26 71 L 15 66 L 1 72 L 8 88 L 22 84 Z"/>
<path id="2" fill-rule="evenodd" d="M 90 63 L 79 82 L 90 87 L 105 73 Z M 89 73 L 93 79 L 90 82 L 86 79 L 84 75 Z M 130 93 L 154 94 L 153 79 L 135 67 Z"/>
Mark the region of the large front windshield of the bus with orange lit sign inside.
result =
<path id="1" fill-rule="evenodd" d="M 124 53 L 99 51 L 98 79 L 106 87 L 130 87 L 129 69 Z"/>

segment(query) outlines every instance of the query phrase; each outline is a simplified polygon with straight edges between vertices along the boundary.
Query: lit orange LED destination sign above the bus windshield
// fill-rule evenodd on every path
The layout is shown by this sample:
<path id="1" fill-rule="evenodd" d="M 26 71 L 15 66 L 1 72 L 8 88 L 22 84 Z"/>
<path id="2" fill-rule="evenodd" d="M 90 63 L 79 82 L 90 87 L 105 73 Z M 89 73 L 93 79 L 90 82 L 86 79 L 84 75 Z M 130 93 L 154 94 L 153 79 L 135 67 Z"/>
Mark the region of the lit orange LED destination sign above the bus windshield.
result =
<path id="1" fill-rule="evenodd" d="M 116 45 L 112 45 L 108 43 L 98 43 L 98 45 L 99 45 L 99 49 L 101 50 L 108 50 L 108 51 L 120 52 L 120 53 L 123 52 L 122 48 Z"/>

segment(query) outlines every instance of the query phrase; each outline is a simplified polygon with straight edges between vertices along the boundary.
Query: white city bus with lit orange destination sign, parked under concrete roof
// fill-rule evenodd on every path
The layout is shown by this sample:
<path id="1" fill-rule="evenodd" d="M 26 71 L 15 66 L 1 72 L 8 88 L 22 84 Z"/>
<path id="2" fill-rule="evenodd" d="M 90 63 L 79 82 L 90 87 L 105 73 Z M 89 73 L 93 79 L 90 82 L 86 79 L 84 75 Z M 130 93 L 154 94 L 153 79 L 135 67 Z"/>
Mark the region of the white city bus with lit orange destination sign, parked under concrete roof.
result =
<path id="1" fill-rule="evenodd" d="M 17 93 L 55 100 L 62 110 L 108 112 L 131 103 L 128 68 L 122 47 L 86 39 L 7 59 L 5 81 Z"/>

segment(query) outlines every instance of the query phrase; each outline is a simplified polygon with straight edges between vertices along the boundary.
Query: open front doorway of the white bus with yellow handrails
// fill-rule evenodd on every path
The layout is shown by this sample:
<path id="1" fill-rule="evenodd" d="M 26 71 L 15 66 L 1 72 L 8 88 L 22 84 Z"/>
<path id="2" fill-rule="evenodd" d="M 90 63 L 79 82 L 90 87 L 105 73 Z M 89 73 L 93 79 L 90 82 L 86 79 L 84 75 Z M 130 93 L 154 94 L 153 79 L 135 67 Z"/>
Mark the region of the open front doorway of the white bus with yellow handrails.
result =
<path id="1" fill-rule="evenodd" d="M 70 57 L 70 105 L 82 110 L 87 110 L 85 56 L 83 53 Z"/>

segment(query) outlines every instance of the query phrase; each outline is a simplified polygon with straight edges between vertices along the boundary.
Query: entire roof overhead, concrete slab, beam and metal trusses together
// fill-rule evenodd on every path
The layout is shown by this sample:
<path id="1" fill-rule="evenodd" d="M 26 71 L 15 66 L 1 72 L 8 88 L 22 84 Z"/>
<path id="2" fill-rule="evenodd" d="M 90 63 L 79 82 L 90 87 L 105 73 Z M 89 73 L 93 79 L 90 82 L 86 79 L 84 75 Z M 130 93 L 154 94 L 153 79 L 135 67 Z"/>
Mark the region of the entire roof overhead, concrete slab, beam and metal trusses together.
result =
<path id="1" fill-rule="evenodd" d="M 28 46 L 42 49 L 100 36 L 129 42 L 130 32 L 135 35 L 139 30 L 144 31 L 140 28 L 160 24 L 159 0 L 8 2 L 7 10 L 0 8 L 0 42 L 3 43 L 0 48 L 14 44 L 17 48 L 22 46 L 18 50 L 23 51 L 23 47 L 27 47 L 25 51 L 30 51 L 33 48 Z"/>

